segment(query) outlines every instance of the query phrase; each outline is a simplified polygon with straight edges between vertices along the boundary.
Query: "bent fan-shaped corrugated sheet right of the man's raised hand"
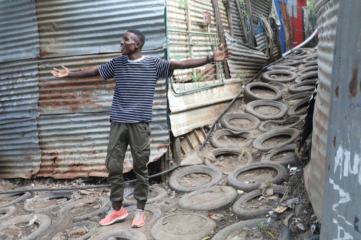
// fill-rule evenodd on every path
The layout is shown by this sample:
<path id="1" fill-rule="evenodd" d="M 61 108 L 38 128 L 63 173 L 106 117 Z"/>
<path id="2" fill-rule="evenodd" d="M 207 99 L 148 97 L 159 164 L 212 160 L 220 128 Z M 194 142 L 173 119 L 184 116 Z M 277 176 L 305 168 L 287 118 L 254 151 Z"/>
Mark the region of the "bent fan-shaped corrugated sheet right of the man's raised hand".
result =
<path id="1" fill-rule="evenodd" d="M 233 51 L 227 60 L 232 77 L 249 80 L 266 64 L 267 57 L 258 48 L 238 42 L 229 34 L 226 34 L 226 41 Z"/>

